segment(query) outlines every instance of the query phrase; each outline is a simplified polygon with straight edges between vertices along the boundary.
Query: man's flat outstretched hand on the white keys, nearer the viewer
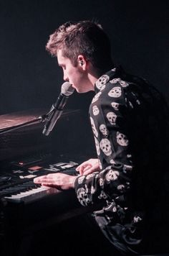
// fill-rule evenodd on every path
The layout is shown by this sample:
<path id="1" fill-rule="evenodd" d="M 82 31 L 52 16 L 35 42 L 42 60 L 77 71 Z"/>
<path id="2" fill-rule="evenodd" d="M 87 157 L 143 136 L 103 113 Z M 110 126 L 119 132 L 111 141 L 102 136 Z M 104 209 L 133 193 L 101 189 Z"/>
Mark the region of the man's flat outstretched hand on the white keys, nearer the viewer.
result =
<path id="1" fill-rule="evenodd" d="M 34 183 L 40 183 L 42 186 L 49 186 L 60 190 L 74 188 L 74 181 L 77 177 L 64 173 L 49 173 L 44 176 L 34 178 Z"/>

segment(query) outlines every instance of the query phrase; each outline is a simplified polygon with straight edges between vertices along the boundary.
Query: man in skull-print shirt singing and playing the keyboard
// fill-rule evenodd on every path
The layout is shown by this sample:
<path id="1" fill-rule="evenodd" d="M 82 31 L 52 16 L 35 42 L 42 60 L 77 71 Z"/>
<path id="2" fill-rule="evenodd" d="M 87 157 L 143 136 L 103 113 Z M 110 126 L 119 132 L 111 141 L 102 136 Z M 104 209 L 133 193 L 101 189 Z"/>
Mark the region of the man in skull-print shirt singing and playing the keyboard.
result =
<path id="1" fill-rule="evenodd" d="M 145 80 L 115 67 L 100 24 L 67 22 L 47 43 L 64 80 L 79 93 L 95 91 L 90 122 L 97 159 L 77 167 L 76 177 L 55 173 L 35 183 L 74 188 L 83 206 L 105 202 L 95 220 L 105 237 L 126 255 L 157 252 L 163 172 L 167 157 L 168 109 Z M 160 208 L 161 209 L 161 208 Z M 155 247 L 155 245 L 157 245 Z"/>

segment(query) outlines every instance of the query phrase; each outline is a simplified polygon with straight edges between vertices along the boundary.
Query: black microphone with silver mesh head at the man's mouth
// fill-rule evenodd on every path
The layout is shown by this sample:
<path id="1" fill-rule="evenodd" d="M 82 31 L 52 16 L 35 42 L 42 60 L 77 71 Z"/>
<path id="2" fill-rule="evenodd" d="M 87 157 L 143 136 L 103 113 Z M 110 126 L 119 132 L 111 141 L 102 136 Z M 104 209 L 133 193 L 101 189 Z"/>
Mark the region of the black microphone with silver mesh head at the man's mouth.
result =
<path id="1" fill-rule="evenodd" d="M 44 130 L 42 132 L 44 135 L 48 136 L 52 131 L 54 125 L 62 114 L 64 105 L 67 103 L 67 99 L 70 95 L 72 95 L 73 92 L 74 88 L 72 88 L 69 82 L 62 84 L 61 93 L 59 94 L 56 103 L 52 105 L 49 114 L 47 114 L 47 121 L 46 124 L 44 124 Z"/>

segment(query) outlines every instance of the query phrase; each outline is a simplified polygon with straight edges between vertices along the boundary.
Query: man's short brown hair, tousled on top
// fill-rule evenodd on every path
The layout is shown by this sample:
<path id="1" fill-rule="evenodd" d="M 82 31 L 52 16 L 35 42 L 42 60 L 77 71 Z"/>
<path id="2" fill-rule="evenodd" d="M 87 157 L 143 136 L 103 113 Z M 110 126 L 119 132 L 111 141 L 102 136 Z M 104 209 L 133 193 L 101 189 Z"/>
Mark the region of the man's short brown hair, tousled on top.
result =
<path id="1" fill-rule="evenodd" d="M 84 55 L 100 73 L 112 68 L 110 40 L 97 22 L 66 22 L 49 37 L 46 49 L 57 56 L 62 48 L 64 57 L 77 65 L 77 56 Z"/>

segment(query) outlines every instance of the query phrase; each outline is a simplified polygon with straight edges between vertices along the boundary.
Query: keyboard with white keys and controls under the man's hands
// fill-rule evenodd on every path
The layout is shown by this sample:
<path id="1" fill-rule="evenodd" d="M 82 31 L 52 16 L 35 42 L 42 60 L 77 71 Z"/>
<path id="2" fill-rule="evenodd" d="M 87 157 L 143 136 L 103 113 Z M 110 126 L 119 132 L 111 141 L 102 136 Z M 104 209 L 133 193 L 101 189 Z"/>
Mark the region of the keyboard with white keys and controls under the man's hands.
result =
<path id="1" fill-rule="evenodd" d="M 52 163 L 45 168 L 32 170 L 14 170 L 15 174 L 0 177 L 0 198 L 6 201 L 29 204 L 39 198 L 49 196 L 52 193 L 59 193 L 56 188 L 49 188 L 34 183 L 34 178 L 49 173 L 65 173 L 68 175 L 78 175 L 74 166 L 77 163 Z M 73 168 L 72 168 L 73 167 Z"/>

